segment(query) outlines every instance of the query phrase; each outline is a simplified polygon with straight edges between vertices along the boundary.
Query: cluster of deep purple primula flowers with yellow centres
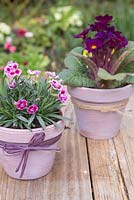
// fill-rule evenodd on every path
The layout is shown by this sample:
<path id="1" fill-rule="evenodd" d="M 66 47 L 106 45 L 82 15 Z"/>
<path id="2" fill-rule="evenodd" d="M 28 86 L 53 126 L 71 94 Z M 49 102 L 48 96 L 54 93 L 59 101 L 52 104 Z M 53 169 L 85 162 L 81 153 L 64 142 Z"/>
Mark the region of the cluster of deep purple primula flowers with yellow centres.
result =
<path id="1" fill-rule="evenodd" d="M 124 48 L 128 41 L 122 36 L 121 32 L 116 31 L 115 27 L 110 25 L 113 17 L 106 14 L 95 17 L 95 22 L 89 25 L 88 29 L 76 34 L 76 38 L 83 38 L 84 56 L 89 57 L 97 68 L 104 68 L 110 72 L 114 62 L 115 53 Z M 88 33 L 92 33 L 89 37 Z"/>

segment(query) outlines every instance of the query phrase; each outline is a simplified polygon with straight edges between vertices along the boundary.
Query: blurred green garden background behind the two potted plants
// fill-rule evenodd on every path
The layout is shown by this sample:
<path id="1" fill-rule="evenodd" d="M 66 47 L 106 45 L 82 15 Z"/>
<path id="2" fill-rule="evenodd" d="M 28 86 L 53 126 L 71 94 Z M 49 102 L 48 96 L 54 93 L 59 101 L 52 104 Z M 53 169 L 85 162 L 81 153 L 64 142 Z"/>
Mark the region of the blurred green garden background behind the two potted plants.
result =
<path id="1" fill-rule="evenodd" d="M 115 26 L 129 40 L 134 40 L 134 0 L 0 0 L 0 22 L 11 28 L 0 38 L 0 66 L 13 60 L 27 69 L 60 71 L 71 48 L 81 44 L 73 39 L 93 18 L 113 15 Z M 31 38 L 16 37 L 13 30 L 33 32 Z M 12 38 L 16 52 L 4 49 L 7 37 Z M 0 67 L 2 69 L 2 67 Z"/>

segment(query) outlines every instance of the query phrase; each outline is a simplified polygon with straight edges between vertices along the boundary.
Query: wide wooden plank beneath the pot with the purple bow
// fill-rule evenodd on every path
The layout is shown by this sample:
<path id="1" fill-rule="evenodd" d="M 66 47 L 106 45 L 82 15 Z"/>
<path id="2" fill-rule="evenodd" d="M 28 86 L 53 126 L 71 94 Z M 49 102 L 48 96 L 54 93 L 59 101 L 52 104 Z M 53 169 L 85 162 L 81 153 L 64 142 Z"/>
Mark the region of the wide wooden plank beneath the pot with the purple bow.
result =
<path id="1" fill-rule="evenodd" d="M 66 110 L 72 115 L 70 106 Z M 1 200 L 92 200 L 85 138 L 77 134 L 73 120 L 67 127 L 59 144 L 62 150 L 46 177 L 18 181 L 0 168 Z"/>

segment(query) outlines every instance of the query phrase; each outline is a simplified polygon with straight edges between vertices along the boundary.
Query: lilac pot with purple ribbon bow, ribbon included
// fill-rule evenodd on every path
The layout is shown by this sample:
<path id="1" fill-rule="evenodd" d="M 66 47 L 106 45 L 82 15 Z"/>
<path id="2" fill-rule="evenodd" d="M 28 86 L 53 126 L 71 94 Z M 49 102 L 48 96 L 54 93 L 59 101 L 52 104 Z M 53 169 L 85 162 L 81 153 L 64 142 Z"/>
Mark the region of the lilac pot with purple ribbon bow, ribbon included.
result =
<path id="1" fill-rule="evenodd" d="M 27 129 L 0 127 L 0 162 L 9 176 L 16 179 L 28 180 L 40 178 L 50 172 L 53 166 L 55 152 L 58 150 L 57 143 L 64 129 L 64 123 L 62 121 L 57 123 L 60 128 L 50 125 L 46 128 L 45 132 L 42 131 L 42 128 L 33 129 L 31 132 Z M 25 147 L 24 151 L 21 149 L 20 144 L 25 146 L 29 144 L 30 140 L 32 143 L 35 142 L 35 135 L 40 142 L 41 139 L 39 139 L 39 136 L 44 133 L 45 137 L 43 142 L 48 141 L 45 147 L 39 146 L 38 144 L 30 144 L 29 151 L 27 151 L 27 147 Z M 51 142 L 53 138 L 55 138 L 54 141 L 56 142 Z M 53 144 L 50 145 L 50 143 Z M 28 154 L 28 156 L 25 155 L 25 161 L 23 160 L 24 154 Z M 20 163 L 21 160 L 22 163 Z M 24 170 L 22 169 L 24 167 L 23 165 L 25 165 Z M 17 167 L 19 170 L 17 170 Z"/>

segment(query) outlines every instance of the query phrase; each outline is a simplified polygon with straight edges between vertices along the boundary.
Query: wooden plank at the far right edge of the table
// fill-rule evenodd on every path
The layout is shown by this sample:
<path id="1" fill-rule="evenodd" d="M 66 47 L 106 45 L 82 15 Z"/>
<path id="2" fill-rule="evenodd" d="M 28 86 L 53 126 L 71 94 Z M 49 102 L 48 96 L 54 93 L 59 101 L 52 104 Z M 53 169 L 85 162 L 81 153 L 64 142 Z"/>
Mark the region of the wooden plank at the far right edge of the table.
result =
<path id="1" fill-rule="evenodd" d="M 128 199 L 134 199 L 134 113 L 127 112 L 134 110 L 134 96 L 130 99 L 126 109 L 126 116 L 122 122 L 121 131 L 114 139 L 118 155 L 119 165 L 122 172 Z M 127 116 L 132 114 L 132 116 Z"/>

